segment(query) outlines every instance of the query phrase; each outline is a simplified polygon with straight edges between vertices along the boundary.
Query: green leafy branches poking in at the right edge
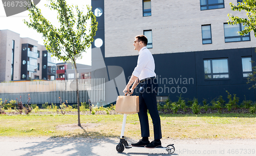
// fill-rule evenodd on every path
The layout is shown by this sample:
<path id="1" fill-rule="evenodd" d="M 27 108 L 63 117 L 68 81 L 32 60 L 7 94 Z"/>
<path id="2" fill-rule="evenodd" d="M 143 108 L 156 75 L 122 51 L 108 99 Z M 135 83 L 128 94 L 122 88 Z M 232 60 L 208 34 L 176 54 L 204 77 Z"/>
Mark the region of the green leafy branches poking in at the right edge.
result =
<path id="1" fill-rule="evenodd" d="M 232 11 L 245 11 L 247 18 L 240 18 L 238 16 L 234 16 L 232 14 L 227 14 L 229 20 L 227 20 L 228 24 L 243 24 L 245 25 L 245 29 L 241 32 L 238 32 L 239 35 L 246 35 L 249 32 L 253 31 L 254 36 L 256 37 L 256 1 L 255 0 L 244 0 L 243 3 L 238 3 L 238 5 L 234 5 L 229 3 Z M 253 61 L 251 61 L 253 63 Z M 251 88 L 255 88 L 256 82 L 256 67 L 252 67 L 252 74 L 249 74 L 247 84 L 254 82 Z"/>

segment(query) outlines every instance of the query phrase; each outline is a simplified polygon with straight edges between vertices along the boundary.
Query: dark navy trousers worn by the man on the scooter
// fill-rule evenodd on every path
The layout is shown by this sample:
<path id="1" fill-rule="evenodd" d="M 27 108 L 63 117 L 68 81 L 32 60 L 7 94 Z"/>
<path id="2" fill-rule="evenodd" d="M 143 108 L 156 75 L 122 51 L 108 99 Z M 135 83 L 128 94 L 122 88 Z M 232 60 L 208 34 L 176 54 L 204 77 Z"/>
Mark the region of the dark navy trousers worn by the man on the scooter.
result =
<path id="1" fill-rule="evenodd" d="M 161 139 L 161 122 L 157 110 L 157 79 L 146 80 L 141 83 L 139 94 L 139 119 L 141 128 L 141 137 L 150 137 L 150 127 L 148 125 L 147 110 L 153 121 L 154 139 Z"/>

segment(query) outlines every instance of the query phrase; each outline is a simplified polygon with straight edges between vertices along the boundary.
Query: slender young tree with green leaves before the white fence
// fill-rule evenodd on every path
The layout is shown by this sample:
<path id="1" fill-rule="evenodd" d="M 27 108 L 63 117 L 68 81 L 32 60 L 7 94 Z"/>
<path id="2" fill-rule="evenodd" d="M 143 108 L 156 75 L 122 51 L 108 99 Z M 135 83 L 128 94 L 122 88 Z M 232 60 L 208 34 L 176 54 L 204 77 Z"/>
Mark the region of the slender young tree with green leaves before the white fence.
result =
<path id="1" fill-rule="evenodd" d="M 71 62 L 75 68 L 76 94 L 78 109 L 78 125 L 80 126 L 80 101 L 78 92 L 76 60 L 81 59 L 81 54 L 91 46 L 96 35 L 98 22 L 91 7 L 87 6 L 84 14 L 78 6 L 69 6 L 65 0 L 47 0 L 45 5 L 50 10 L 57 11 L 57 19 L 60 26 L 55 27 L 41 13 L 41 10 L 32 3 L 29 11 L 29 21 L 24 23 L 42 34 L 46 49 L 58 60 Z M 91 22 L 88 24 L 87 22 Z M 88 25 L 87 25 L 88 24 Z M 89 29 L 88 29 L 89 27 Z"/>

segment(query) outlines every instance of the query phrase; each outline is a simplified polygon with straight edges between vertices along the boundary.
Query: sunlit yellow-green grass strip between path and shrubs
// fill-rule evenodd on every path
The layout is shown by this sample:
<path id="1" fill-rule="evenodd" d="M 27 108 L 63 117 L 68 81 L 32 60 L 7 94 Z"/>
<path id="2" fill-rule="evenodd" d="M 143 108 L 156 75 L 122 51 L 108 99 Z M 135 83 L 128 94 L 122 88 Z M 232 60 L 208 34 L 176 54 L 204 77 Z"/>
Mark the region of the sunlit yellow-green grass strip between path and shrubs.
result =
<path id="1" fill-rule="evenodd" d="M 163 139 L 256 139 L 255 114 L 160 114 Z M 81 115 L 81 123 L 100 123 L 89 129 L 60 131 L 57 125 L 77 123 L 77 115 L 0 115 L 0 137 L 119 137 L 123 115 Z M 153 124 L 150 119 L 151 137 Z M 128 115 L 125 137 L 140 138 L 137 114 Z"/>

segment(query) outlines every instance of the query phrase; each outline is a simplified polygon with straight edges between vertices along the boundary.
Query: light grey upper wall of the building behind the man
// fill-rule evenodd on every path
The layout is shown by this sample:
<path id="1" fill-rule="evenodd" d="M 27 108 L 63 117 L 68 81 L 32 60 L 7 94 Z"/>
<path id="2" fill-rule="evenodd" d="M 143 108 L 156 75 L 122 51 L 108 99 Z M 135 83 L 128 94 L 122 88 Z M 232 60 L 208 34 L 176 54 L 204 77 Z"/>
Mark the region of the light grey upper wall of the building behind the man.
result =
<path id="1" fill-rule="evenodd" d="M 229 0 L 224 1 L 225 8 L 201 11 L 200 0 L 152 0 L 152 16 L 143 17 L 142 1 L 105 0 L 105 57 L 138 55 L 133 41 L 143 30 L 152 30 L 152 54 L 253 47 L 253 32 L 251 41 L 225 43 L 227 14 L 246 17 L 245 12 L 231 11 L 230 2 L 237 4 Z M 211 24 L 212 44 L 202 44 L 204 24 Z"/>

